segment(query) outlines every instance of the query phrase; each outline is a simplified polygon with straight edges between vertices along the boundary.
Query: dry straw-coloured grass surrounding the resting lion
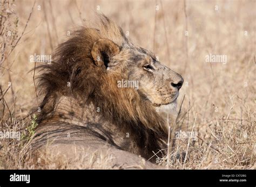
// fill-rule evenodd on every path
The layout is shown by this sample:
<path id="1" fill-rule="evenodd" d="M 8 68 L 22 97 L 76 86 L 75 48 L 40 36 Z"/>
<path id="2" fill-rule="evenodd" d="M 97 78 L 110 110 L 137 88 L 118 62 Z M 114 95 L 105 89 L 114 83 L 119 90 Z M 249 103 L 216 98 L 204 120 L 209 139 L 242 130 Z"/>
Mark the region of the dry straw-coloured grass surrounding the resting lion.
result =
<path id="1" fill-rule="evenodd" d="M 103 12 L 129 31 L 134 43 L 153 51 L 184 77 L 181 112 L 177 120 L 169 120 L 170 156 L 159 159 L 159 164 L 177 169 L 255 169 L 255 1 L 185 1 L 185 6 L 184 1 L 171 0 L 37 1 L 29 20 L 33 1 L 4 2 L 2 19 L 9 21 L 0 38 L 2 131 L 28 134 L 25 127 L 31 119 L 26 116 L 37 106 L 33 72 L 28 73 L 35 64 L 29 56 L 51 54 L 67 31 L 90 25 L 95 12 Z M 227 55 L 227 63 L 206 62 L 207 54 Z M 176 139 L 179 130 L 194 131 L 198 138 Z M 0 168 L 35 168 L 19 155 L 24 143 L 1 140 Z M 177 153 L 187 155 L 177 160 Z M 69 168 L 64 165 L 39 168 Z"/>

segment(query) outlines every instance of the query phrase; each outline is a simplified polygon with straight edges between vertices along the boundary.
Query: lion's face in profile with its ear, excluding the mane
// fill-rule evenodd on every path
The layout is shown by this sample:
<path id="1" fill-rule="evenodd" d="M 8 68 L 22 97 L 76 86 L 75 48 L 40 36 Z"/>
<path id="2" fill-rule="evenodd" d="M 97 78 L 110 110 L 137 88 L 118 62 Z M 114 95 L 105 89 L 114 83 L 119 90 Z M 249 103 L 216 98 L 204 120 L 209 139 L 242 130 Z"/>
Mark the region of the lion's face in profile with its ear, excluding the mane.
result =
<path id="1" fill-rule="evenodd" d="M 117 45 L 109 39 L 99 39 L 91 54 L 106 74 L 122 73 L 122 80 L 117 82 L 119 88 L 133 87 L 142 99 L 157 107 L 176 102 L 183 78 L 146 49 L 127 42 Z"/>

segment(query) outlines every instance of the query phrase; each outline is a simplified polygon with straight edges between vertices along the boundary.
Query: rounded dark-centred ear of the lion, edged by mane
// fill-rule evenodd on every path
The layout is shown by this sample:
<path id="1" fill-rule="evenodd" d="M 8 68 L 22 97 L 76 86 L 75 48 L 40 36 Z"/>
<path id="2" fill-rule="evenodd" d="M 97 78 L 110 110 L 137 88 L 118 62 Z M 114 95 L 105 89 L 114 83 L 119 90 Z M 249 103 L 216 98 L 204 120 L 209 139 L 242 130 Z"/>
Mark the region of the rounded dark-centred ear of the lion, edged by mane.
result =
<path id="1" fill-rule="evenodd" d="M 92 57 L 96 66 L 109 67 L 109 62 L 112 56 L 118 54 L 120 48 L 117 44 L 109 39 L 99 39 L 92 46 Z"/>

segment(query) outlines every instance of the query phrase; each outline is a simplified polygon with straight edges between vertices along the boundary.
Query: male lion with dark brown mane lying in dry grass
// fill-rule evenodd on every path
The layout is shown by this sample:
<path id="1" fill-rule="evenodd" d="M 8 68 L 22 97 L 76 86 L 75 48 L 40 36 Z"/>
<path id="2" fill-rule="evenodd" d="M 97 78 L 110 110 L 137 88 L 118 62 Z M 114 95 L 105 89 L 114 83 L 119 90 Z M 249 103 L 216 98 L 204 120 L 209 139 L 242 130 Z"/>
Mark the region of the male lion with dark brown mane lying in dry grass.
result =
<path id="1" fill-rule="evenodd" d="M 43 99 L 32 154 L 47 149 L 72 160 L 107 153 L 111 168 L 157 168 L 168 138 L 158 109 L 176 106 L 183 77 L 104 15 L 97 27 L 72 32 L 52 59 L 38 67 Z"/>

